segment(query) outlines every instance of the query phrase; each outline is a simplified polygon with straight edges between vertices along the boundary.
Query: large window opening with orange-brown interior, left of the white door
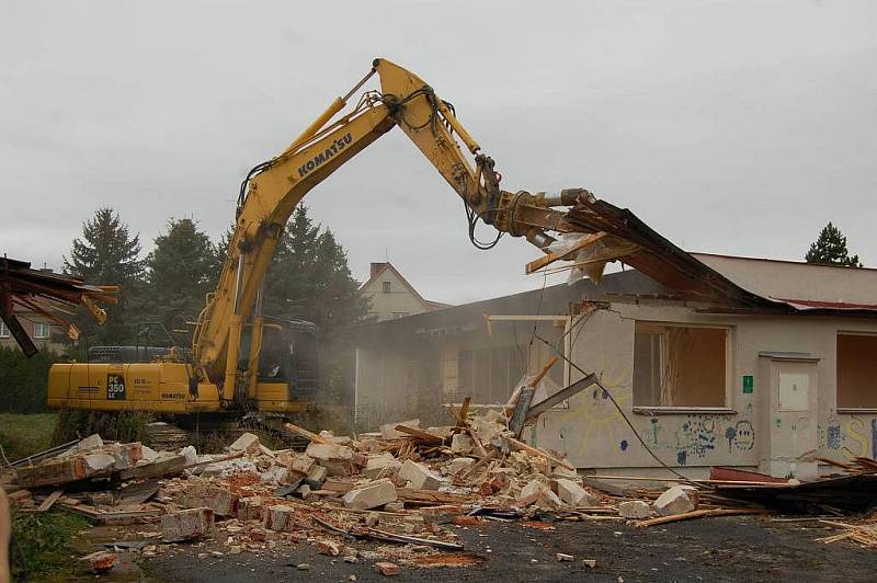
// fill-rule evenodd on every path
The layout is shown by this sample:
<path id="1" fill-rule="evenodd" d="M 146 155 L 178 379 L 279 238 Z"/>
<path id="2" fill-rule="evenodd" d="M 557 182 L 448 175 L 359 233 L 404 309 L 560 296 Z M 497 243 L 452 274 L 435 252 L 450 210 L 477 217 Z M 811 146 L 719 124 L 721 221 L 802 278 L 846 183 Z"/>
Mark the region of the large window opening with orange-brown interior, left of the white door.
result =
<path id="1" fill-rule="evenodd" d="M 726 407 L 728 329 L 637 323 L 634 407 Z"/>

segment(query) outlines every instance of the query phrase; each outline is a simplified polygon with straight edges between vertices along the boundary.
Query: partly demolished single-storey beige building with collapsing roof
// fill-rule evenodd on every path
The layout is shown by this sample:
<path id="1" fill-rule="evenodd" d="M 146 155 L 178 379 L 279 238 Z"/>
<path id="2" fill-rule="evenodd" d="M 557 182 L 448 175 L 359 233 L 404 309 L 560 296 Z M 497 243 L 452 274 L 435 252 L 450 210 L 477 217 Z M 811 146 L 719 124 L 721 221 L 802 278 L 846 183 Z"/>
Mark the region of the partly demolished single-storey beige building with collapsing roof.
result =
<path id="1" fill-rule="evenodd" d="M 525 436 L 578 468 L 645 475 L 651 450 L 694 477 L 810 479 L 820 457 L 877 454 L 877 270 L 686 253 L 602 201 L 573 213 L 633 243 L 633 270 L 362 327 L 357 423 L 443 423 L 467 396 L 499 407 L 557 352 L 540 391 L 591 371 L 607 391 Z"/>

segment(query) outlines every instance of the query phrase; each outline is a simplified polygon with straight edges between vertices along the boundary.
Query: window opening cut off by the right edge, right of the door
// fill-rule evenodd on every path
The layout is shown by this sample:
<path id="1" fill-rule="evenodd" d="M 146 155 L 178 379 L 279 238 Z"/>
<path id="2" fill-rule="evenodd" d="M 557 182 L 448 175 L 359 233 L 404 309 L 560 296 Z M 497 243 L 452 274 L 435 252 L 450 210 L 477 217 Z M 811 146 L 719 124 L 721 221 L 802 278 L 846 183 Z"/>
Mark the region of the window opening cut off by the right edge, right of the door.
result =
<path id="1" fill-rule="evenodd" d="M 877 335 L 838 334 L 838 408 L 877 409 Z"/>

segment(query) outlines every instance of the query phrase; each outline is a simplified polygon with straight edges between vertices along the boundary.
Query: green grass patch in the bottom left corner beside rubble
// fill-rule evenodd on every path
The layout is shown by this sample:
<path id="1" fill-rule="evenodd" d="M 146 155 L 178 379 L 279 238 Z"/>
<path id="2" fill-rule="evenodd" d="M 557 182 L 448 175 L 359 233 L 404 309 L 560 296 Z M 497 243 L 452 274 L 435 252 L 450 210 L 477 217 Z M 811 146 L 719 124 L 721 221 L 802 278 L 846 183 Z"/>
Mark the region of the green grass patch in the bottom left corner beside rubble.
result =
<path id="1" fill-rule="evenodd" d="M 70 581 L 78 567 L 70 560 L 70 541 L 88 527 L 84 517 L 62 511 L 13 513 L 13 581 Z"/>

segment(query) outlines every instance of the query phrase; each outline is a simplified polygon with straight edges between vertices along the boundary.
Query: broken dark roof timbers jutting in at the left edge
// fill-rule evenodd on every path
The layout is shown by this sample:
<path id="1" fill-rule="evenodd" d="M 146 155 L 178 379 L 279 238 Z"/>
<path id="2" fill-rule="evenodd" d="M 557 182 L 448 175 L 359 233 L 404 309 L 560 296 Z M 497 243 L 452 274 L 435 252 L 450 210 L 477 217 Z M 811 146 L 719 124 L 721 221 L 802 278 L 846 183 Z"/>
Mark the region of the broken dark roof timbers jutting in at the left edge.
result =
<path id="1" fill-rule="evenodd" d="M 87 285 L 67 275 L 32 270 L 25 261 L 0 258 L 0 318 L 29 357 L 36 354 L 37 348 L 13 312 L 14 306 L 66 327 L 70 339 L 76 340 L 79 330 L 59 316 L 65 313 L 64 307 L 83 306 L 98 322 L 103 323 L 106 312 L 100 304 L 117 304 L 117 294 L 116 286 Z"/>

